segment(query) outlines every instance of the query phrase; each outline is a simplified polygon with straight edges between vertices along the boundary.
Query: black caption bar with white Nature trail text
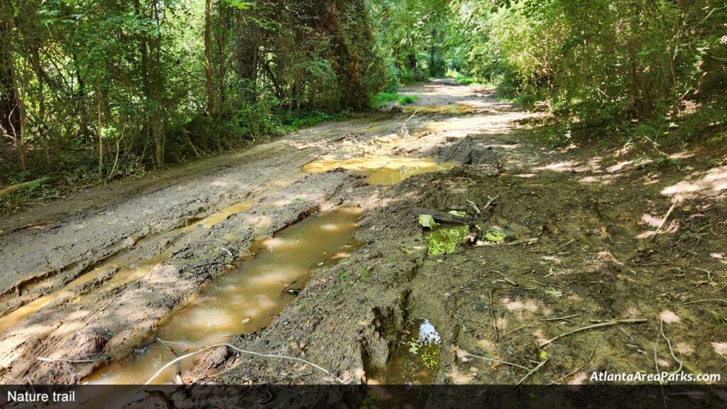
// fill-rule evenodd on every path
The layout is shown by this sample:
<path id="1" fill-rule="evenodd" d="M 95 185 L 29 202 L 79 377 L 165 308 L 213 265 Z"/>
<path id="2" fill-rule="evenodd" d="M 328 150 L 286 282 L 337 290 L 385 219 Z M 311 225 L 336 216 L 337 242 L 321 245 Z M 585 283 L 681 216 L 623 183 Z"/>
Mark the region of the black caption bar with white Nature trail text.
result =
<path id="1" fill-rule="evenodd" d="M 727 408 L 727 386 L 0 386 L 2 408 Z"/>

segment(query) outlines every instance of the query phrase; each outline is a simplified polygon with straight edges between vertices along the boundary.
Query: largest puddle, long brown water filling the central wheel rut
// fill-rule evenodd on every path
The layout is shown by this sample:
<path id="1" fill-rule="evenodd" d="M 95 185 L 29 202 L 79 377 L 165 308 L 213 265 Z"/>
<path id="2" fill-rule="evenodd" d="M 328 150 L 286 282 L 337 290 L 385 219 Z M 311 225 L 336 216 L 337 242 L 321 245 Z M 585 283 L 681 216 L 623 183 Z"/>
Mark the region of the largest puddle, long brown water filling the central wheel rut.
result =
<path id="1" fill-rule="evenodd" d="M 174 352 L 184 354 L 219 344 L 230 335 L 266 327 L 305 287 L 318 266 L 331 266 L 356 249 L 353 232 L 361 211 L 343 208 L 306 218 L 271 239 L 252 246 L 255 254 L 238 263 L 174 314 L 157 340 L 131 356 L 113 362 L 87 379 L 89 384 L 144 384 Z M 174 349 L 174 352 L 172 352 Z M 193 359 L 170 367 L 153 384 L 172 384 L 189 373 Z"/>

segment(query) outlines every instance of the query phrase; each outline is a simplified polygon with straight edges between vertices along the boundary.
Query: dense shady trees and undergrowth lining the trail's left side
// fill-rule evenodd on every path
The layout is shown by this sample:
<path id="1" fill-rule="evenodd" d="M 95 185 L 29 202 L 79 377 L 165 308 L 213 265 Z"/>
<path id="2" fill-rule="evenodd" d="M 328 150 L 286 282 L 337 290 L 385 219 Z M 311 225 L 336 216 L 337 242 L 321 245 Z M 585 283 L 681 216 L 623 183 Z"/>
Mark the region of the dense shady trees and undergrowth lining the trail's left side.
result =
<path id="1" fill-rule="evenodd" d="M 363 0 L 222 0 L 209 16 L 201 0 L 10 1 L 0 34 L 3 106 L 25 97 L 36 174 L 92 174 L 99 148 L 96 179 L 185 162 L 340 119 L 391 85 Z M 17 144 L 15 128 L 0 143 Z M 0 184 L 20 170 L 6 157 L 17 151 L 0 149 Z"/>

